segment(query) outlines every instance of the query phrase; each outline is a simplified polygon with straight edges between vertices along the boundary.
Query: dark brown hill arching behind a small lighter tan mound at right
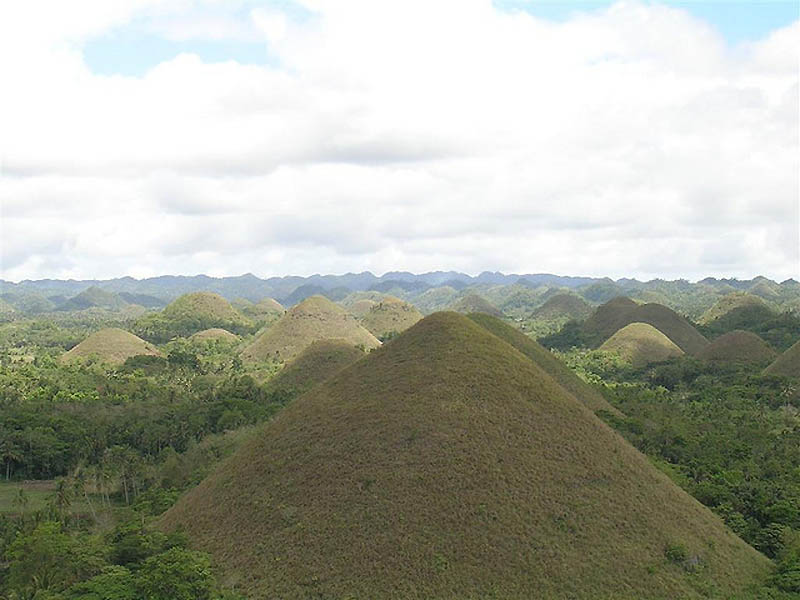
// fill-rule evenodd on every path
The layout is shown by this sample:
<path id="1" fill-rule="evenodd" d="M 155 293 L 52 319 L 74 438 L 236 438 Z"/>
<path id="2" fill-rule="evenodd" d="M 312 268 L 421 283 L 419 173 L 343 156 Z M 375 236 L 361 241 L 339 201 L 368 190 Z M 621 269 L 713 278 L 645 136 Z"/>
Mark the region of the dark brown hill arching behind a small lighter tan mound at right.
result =
<path id="1" fill-rule="evenodd" d="M 672 340 L 686 354 L 697 355 L 708 340 L 689 321 L 661 304 L 636 304 L 628 298 L 614 298 L 598 307 L 583 324 L 590 345 L 600 346 L 631 323 L 647 323 Z"/>

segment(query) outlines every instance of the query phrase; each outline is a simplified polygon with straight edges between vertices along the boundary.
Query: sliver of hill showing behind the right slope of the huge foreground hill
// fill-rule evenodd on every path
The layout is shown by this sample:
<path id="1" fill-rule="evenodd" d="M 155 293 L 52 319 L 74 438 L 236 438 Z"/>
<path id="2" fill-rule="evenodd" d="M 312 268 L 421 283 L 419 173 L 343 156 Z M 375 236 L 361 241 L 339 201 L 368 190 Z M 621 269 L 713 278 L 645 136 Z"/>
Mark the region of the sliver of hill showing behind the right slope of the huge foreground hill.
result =
<path id="1" fill-rule="evenodd" d="M 537 341 L 524 333 L 520 333 L 497 317 L 483 313 L 472 313 L 468 316 L 475 323 L 504 342 L 511 344 L 519 352 L 535 362 L 539 368 L 555 379 L 561 387 L 586 404 L 592 411 L 605 411 L 616 416 L 622 416 L 622 413 L 611 406 L 600 392 L 575 375 L 562 360 Z"/>

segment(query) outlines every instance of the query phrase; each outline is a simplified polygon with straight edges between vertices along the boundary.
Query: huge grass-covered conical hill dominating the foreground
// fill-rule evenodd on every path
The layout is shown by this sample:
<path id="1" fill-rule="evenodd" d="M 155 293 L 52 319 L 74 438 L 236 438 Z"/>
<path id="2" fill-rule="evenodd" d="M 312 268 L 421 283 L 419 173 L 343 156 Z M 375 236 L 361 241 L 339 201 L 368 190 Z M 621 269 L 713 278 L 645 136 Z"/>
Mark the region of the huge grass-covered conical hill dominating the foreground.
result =
<path id="1" fill-rule="evenodd" d="M 438 313 L 160 519 L 249 598 L 702 598 L 770 563 L 535 363 Z"/>

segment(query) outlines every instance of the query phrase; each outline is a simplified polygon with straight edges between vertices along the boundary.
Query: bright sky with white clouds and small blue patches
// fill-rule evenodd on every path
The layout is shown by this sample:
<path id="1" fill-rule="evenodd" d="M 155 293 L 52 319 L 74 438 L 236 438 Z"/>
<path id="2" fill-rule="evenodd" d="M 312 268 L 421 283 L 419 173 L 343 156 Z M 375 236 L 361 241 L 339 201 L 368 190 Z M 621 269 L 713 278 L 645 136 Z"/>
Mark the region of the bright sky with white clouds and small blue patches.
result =
<path id="1" fill-rule="evenodd" d="M 798 3 L 12 0 L 0 278 L 800 278 Z"/>

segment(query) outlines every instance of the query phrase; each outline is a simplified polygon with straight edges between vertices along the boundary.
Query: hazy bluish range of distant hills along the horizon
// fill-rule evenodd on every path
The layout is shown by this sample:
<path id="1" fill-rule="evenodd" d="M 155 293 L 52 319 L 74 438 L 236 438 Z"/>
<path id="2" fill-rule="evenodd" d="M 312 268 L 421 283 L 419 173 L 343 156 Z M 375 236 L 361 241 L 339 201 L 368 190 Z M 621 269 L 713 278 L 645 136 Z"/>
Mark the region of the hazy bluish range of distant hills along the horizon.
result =
<path id="1" fill-rule="evenodd" d="M 612 280 L 607 277 L 566 277 L 548 273 L 484 272 L 471 276 L 455 271 L 422 274 L 393 271 L 377 276 L 367 271 L 267 279 L 248 273 L 221 278 L 164 275 L 148 279 L 42 279 L 18 283 L 0 280 L 3 306 L 11 307 L 17 314 L 87 309 L 114 311 L 131 305 L 160 309 L 179 296 L 201 291 L 213 292 L 238 303 L 258 303 L 271 298 L 286 308 L 313 295 L 322 295 L 338 302 L 354 293 L 390 294 L 414 304 L 424 314 L 443 310 L 462 298 L 478 294 L 489 304 L 517 318 L 526 318 L 554 294 L 564 293 L 572 295 L 573 303 L 582 300 L 590 306 L 619 296 L 627 296 L 637 302 L 657 302 L 693 320 L 701 317 L 709 320 L 722 313 L 729 308 L 727 304 L 730 304 L 730 299 L 706 314 L 717 302 L 731 294 L 736 294 L 731 296 L 733 299 L 740 299 L 746 294 L 751 305 L 760 303 L 760 306 L 777 312 L 800 310 L 800 283 L 794 279 L 778 283 L 765 277 L 749 280 L 706 278 L 692 283 L 680 279 L 643 282 L 629 278 Z M 11 311 L 7 309 L 6 314 L 11 314 Z M 539 316 L 534 315 L 534 318 Z"/>

